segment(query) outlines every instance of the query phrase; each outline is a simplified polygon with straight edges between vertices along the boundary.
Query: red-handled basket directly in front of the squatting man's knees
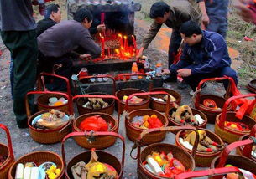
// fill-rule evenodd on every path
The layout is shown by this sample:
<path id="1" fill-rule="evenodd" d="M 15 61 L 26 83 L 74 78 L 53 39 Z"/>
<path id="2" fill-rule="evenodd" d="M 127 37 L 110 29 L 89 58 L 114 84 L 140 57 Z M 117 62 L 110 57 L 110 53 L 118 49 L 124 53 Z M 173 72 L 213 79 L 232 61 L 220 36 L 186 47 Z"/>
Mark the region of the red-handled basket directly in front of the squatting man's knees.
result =
<path id="1" fill-rule="evenodd" d="M 227 93 L 226 93 L 226 96 L 229 96 L 230 95 L 230 88 L 231 88 L 232 85 L 234 85 L 234 81 L 230 77 L 203 79 L 198 84 L 197 89 L 201 89 L 202 84 L 204 84 L 206 82 L 222 81 L 222 80 L 225 80 L 225 79 L 229 80 L 229 86 L 227 88 Z M 220 96 L 217 96 L 217 95 L 200 95 L 200 94 L 201 94 L 200 92 L 198 92 L 196 94 L 195 108 L 197 110 L 201 110 L 201 112 L 203 112 L 206 115 L 209 123 L 214 124 L 215 120 L 216 120 L 216 116 L 218 114 L 222 113 L 222 110 L 215 110 L 215 109 L 212 109 L 212 108 L 208 108 L 205 105 L 203 105 L 203 101 L 206 100 L 206 99 L 213 100 L 213 101 L 215 101 L 216 105 L 219 108 L 222 109 L 223 105 L 225 104 L 226 99 L 222 98 Z M 228 106 L 227 110 L 231 110 L 231 106 Z"/>

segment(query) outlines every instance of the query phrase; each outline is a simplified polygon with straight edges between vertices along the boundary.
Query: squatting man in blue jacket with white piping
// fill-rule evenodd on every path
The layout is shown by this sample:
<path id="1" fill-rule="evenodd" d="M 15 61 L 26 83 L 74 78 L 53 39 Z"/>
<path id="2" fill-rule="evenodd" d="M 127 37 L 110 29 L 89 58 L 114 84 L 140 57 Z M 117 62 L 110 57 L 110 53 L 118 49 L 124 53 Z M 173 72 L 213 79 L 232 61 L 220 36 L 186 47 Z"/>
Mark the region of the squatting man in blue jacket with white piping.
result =
<path id="1" fill-rule="evenodd" d="M 201 30 L 192 21 L 181 25 L 180 34 L 185 42 L 180 61 L 170 70 L 163 69 L 164 74 L 179 74 L 194 91 L 202 79 L 213 77 L 229 76 L 238 84 L 237 73 L 230 67 L 227 43 L 220 34 Z M 225 81 L 225 88 L 227 85 Z"/>

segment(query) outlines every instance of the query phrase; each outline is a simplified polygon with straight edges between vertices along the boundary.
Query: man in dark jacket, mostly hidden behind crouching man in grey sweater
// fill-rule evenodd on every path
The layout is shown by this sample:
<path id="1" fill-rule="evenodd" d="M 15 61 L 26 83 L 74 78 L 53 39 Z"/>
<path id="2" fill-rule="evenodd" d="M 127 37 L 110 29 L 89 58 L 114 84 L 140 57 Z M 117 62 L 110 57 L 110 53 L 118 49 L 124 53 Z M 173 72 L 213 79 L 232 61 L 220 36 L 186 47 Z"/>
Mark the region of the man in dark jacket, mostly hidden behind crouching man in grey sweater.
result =
<path id="1" fill-rule="evenodd" d="M 61 12 L 58 4 L 50 4 L 46 7 L 44 19 L 37 23 L 36 33 L 37 36 L 44 33 L 45 30 L 60 23 Z"/>

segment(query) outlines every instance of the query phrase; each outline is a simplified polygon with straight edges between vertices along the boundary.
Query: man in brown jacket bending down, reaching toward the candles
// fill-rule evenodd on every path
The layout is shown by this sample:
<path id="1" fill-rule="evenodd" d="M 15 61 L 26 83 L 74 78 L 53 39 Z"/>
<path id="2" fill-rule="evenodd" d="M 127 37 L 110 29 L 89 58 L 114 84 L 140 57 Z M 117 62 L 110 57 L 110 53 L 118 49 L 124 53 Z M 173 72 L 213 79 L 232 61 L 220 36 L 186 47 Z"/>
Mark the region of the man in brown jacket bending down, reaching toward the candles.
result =
<path id="1" fill-rule="evenodd" d="M 151 24 L 147 35 L 144 37 L 137 58 L 142 56 L 144 49 L 149 47 L 149 44 L 159 32 L 162 24 L 165 23 L 167 27 L 172 28 L 168 52 L 168 66 L 170 67 L 180 47 L 182 39 L 180 36 L 181 24 L 189 20 L 199 23 L 200 15 L 197 13 L 196 8 L 191 6 L 191 3 L 186 0 L 178 0 L 172 2 L 171 6 L 164 2 L 154 3 L 150 8 L 149 16 L 154 19 L 154 23 Z M 168 81 L 172 79 L 176 80 L 177 77 L 172 76 Z"/>

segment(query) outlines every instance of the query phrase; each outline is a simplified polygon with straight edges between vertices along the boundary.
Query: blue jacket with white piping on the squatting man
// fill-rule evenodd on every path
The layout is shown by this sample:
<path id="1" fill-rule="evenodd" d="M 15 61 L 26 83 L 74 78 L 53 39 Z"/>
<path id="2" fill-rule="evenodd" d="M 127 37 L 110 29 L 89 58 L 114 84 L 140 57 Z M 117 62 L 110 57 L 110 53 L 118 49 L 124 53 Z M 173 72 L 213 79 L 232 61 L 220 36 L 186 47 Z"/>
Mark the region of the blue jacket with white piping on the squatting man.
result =
<path id="1" fill-rule="evenodd" d="M 227 51 L 227 43 L 218 33 L 202 31 L 201 43 L 185 47 L 177 64 L 170 66 L 170 71 L 191 69 L 191 74 L 210 74 L 215 70 L 230 66 L 231 59 Z"/>

